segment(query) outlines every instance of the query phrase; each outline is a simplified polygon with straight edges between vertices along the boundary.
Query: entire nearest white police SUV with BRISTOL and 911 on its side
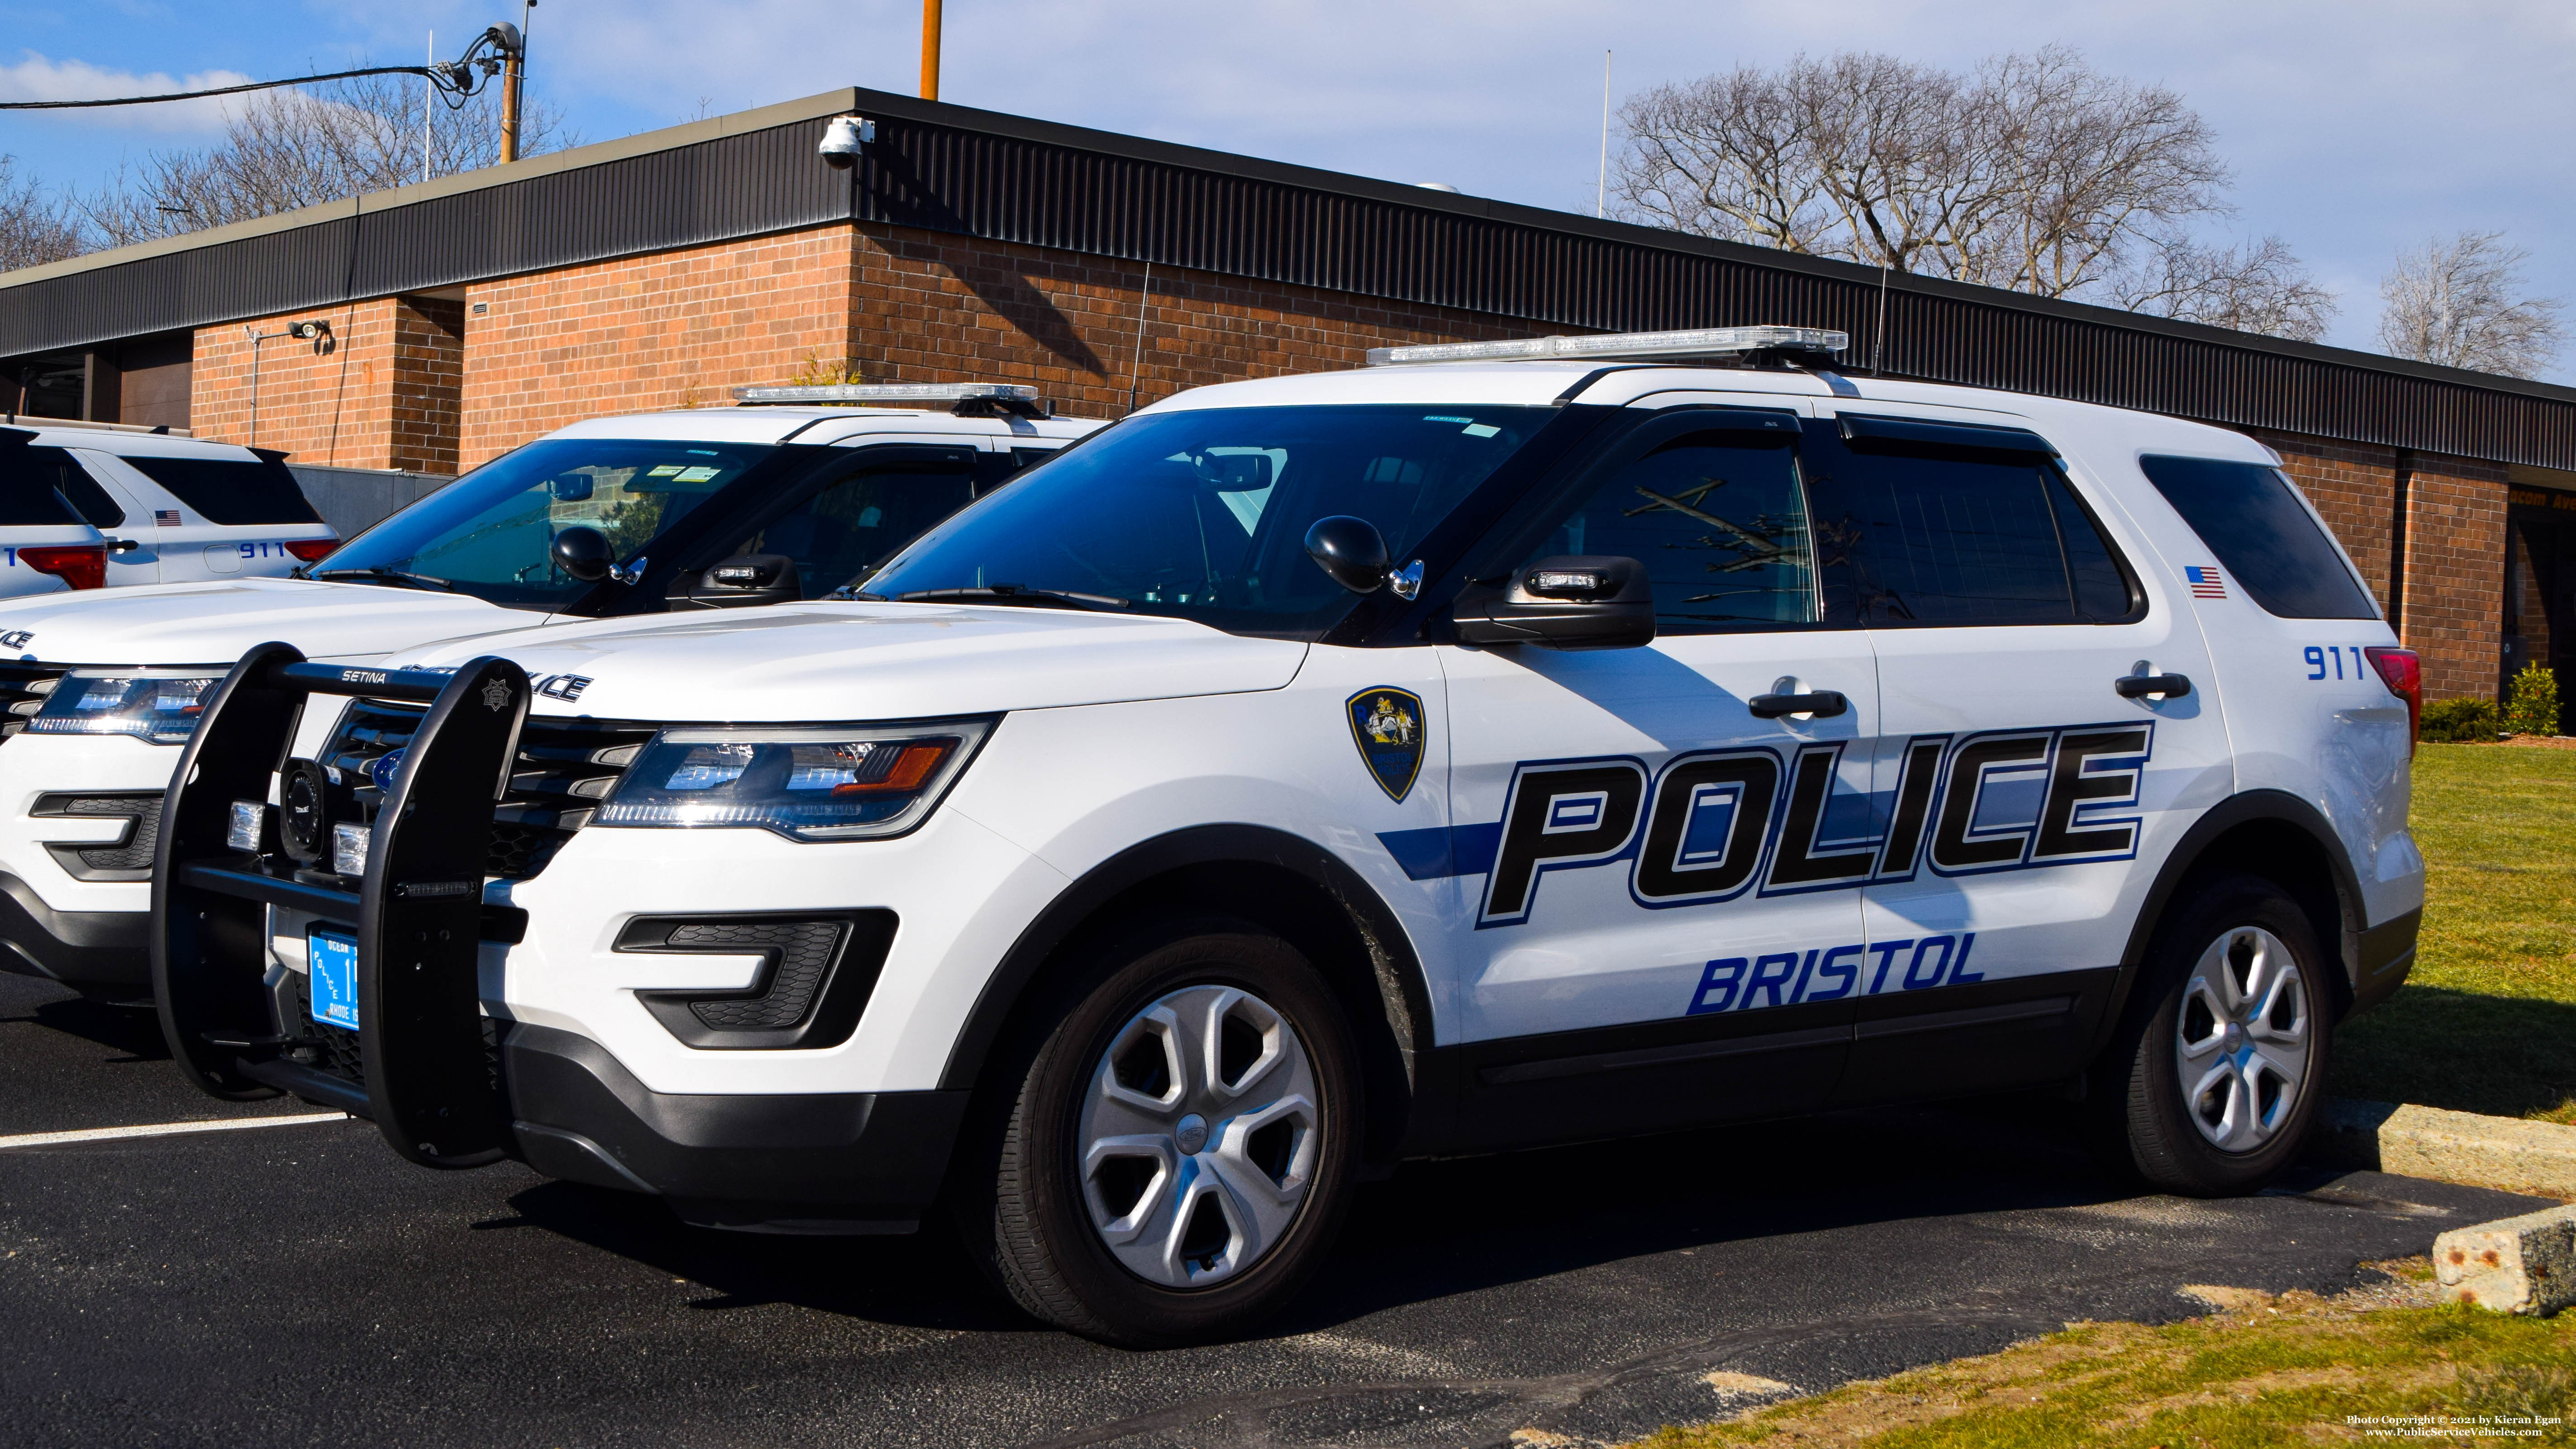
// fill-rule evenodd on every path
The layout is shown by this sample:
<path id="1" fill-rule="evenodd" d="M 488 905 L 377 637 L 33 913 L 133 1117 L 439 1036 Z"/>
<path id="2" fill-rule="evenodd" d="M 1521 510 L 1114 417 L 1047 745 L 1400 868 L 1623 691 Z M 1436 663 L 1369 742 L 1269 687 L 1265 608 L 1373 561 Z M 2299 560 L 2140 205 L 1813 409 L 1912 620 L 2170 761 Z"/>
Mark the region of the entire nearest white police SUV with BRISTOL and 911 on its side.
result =
<path id="1" fill-rule="evenodd" d="M 1131 1343 L 1417 1153 L 2089 1084 L 2249 1192 L 2414 955 L 2416 661 L 2262 445 L 1839 345 L 1208 386 L 850 602 L 245 659 L 173 1050 Z"/>

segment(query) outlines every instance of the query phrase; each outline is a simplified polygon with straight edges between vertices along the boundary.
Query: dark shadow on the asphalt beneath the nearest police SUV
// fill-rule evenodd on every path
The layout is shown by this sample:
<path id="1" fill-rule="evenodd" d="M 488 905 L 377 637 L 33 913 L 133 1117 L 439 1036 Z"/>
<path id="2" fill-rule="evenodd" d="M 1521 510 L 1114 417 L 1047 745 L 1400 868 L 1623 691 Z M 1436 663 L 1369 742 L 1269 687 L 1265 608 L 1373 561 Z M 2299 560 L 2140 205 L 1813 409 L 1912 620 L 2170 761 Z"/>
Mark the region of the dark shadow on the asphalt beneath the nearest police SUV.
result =
<path id="1" fill-rule="evenodd" d="M 1677 1248 L 1723 1253 L 1821 1228 L 2125 1197 L 2136 1189 L 2097 1171 L 2053 1104 L 2030 1096 L 1406 1163 L 1360 1192 L 1314 1287 L 1252 1336 Z M 518 1217 L 477 1228 L 541 1228 L 685 1277 L 716 1289 L 693 1305 L 703 1310 L 799 1305 L 914 1328 L 1038 1328 L 935 1223 L 917 1238 L 721 1233 L 647 1197 L 564 1181 L 510 1207 Z"/>

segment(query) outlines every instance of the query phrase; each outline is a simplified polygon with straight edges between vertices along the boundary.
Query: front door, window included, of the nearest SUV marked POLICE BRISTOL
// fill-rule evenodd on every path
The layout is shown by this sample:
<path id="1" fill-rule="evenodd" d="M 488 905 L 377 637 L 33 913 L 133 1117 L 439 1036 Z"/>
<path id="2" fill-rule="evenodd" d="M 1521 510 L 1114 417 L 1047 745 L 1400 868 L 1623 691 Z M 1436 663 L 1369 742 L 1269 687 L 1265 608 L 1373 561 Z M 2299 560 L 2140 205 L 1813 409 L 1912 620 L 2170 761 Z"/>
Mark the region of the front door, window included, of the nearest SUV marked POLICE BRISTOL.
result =
<path id="1" fill-rule="evenodd" d="M 1814 1102 L 1862 952 L 1878 687 L 1819 623 L 1798 414 L 1664 409 L 1468 571 L 1584 553 L 1646 566 L 1651 646 L 1443 649 L 1463 1102 L 1497 1143 Z"/>

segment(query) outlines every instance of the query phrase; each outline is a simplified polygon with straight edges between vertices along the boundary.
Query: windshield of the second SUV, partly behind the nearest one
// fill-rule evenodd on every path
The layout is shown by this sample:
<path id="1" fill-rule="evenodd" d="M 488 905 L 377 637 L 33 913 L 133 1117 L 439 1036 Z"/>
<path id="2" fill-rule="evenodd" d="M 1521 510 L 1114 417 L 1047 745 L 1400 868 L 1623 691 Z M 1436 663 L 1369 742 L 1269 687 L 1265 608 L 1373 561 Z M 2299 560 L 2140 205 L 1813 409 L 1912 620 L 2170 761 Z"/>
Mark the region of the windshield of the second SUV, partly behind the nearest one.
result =
<path id="1" fill-rule="evenodd" d="M 314 579 L 415 577 L 495 605 L 551 610 L 592 589 L 554 566 L 554 535 L 585 525 L 621 564 L 770 445 L 556 438 L 505 453 L 314 564 Z"/>

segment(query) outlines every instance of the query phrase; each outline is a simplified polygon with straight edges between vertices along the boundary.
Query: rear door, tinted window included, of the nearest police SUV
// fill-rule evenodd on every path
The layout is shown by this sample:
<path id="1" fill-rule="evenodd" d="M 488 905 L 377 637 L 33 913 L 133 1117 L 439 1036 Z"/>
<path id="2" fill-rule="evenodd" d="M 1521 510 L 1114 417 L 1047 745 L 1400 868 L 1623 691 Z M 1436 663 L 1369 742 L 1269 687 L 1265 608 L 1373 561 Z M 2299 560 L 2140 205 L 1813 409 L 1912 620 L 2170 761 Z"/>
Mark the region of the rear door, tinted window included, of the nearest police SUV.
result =
<path id="1" fill-rule="evenodd" d="M 2154 862 L 2231 790 L 2197 623 L 2120 512 L 1994 414 L 1844 404 L 1811 425 L 1829 618 L 1878 654 L 1886 847 L 1842 1099 L 2069 1076 Z M 2182 674 L 2179 697 L 2120 682 Z"/>

